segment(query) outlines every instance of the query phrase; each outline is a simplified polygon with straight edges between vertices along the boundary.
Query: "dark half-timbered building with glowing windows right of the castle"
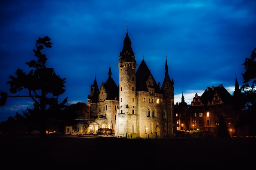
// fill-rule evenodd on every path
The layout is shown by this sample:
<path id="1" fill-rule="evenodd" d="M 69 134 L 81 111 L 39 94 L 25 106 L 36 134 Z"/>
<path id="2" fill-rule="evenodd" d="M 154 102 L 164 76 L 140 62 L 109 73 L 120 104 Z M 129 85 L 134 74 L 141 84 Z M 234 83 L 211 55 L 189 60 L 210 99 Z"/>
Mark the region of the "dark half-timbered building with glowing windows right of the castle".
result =
<path id="1" fill-rule="evenodd" d="M 239 116 L 245 114 L 245 109 L 239 107 L 239 95 L 237 78 L 233 96 L 223 85 L 212 86 L 201 96 L 195 94 L 191 105 L 187 105 L 182 93 L 182 102 L 175 105 L 176 129 L 217 134 L 219 116 L 222 115 L 230 135 L 248 135 L 246 126 L 238 126 Z"/>

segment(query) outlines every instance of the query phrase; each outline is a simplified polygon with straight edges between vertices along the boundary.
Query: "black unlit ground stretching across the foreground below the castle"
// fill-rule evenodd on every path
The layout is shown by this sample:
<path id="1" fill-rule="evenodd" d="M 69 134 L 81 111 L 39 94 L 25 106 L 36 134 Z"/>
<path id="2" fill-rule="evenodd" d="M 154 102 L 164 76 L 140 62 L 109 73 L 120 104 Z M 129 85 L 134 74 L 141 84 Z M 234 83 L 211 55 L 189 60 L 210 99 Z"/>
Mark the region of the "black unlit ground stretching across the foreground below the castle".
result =
<path id="1" fill-rule="evenodd" d="M 0 166 L 1 170 L 246 169 L 254 166 L 255 145 L 256 138 L 249 137 L 2 137 Z"/>

